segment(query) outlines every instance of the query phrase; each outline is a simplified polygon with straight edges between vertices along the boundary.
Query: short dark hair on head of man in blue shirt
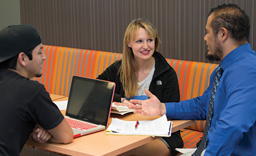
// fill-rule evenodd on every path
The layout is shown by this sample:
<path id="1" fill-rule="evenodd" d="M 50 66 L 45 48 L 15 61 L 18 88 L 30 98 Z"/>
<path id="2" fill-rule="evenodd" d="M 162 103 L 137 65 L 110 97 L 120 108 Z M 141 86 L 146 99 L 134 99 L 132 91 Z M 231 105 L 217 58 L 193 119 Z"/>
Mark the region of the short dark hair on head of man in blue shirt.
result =
<path id="1" fill-rule="evenodd" d="M 210 26 L 213 28 L 213 33 L 218 34 L 221 28 L 226 28 L 238 44 L 241 41 L 249 42 L 250 22 L 249 16 L 245 11 L 241 10 L 236 4 L 222 4 L 216 8 L 212 8 L 209 12 L 213 14 L 213 20 Z"/>

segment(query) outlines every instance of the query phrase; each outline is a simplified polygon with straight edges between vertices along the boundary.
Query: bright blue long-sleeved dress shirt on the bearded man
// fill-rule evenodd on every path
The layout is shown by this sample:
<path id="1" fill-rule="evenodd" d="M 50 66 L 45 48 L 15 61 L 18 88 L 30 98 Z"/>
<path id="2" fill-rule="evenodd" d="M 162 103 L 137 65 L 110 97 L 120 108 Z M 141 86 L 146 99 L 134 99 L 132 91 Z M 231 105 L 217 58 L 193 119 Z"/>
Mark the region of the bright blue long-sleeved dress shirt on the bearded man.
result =
<path id="1" fill-rule="evenodd" d="M 251 45 L 243 44 L 221 62 L 224 70 L 216 91 L 213 119 L 204 155 L 256 154 L 256 55 Z M 180 103 L 166 103 L 170 119 L 206 119 L 211 89 L 201 97 Z"/>

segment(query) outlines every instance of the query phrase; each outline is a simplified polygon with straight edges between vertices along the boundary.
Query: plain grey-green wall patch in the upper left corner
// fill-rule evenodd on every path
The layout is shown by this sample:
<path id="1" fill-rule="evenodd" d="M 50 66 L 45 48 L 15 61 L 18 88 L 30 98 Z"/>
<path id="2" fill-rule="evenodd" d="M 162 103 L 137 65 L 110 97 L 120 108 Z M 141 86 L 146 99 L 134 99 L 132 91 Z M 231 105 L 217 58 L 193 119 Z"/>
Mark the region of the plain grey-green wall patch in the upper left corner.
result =
<path id="1" fill-rule="evenodd" d="M 20 2 L 17 0 L 1 0 L 0 30 L 9 25 L 20 25 Z"/>

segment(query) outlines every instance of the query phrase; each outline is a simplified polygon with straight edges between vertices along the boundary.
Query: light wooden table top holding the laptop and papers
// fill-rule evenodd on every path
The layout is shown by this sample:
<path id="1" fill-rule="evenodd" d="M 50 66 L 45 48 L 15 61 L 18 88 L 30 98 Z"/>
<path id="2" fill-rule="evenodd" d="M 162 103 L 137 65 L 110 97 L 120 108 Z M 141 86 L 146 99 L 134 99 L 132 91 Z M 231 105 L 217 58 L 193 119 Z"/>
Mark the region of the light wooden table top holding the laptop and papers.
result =
<path id="1" fill-rule="evenodd" d="M 56 101 L 64 101 L 67 98 L 59 98 Z M 61 110 L 64 114 L 66 111 Z M 134 120 L 152 120 L 156 117 L 142 116 L 140 114 L 129 113 L 126 115 L 111 114 L 111 118 L 120 118 L 127 121 Z M 194 124 L 194 121 L 172 121 L 172 132 L 178 131 L 181 128 Z M 38 148 L 47 149 L 50 151 L 60 152 L 67 155 L 118 155 L 130 149 L 144 145 L 159 137 L 151 136 L 108 136 L 105 134 L 105 130 L 88 134 L 86 136 L 78 137 L 69 144 L 58 143 L 37 143 L 32 140 L 26 142 L 27 145 L 37 146 Z"/>

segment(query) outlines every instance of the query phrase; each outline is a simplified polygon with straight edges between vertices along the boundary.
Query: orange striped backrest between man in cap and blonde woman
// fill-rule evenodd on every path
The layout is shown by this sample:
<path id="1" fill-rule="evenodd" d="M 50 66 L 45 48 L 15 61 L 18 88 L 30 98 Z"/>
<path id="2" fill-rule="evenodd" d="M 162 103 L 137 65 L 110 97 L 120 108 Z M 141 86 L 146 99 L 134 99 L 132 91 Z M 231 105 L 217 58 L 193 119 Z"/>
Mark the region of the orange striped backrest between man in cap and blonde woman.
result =
<path id="1" fill-rule="evenodd" d="M 121 53 L 46 45 L 43 51 L 47 57 L 43 76 L 34 80 L 44 84 L 50 94 L 66 97 L 69 96 L 73 75 L 96 78 L 122 56 Z"/>

